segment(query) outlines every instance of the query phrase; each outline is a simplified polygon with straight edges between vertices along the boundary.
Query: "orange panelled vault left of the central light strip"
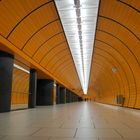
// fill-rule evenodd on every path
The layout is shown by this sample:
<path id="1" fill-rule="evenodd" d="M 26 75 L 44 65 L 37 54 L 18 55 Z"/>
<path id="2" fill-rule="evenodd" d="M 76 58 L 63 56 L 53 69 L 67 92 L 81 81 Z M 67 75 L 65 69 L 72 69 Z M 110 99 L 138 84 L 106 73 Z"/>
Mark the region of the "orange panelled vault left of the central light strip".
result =
<path id="1" fill-rule="evenodd" d="M 53 0 L 0 1 L 0 35 L 15 54 L 77 94 L 81 91 Z"/>

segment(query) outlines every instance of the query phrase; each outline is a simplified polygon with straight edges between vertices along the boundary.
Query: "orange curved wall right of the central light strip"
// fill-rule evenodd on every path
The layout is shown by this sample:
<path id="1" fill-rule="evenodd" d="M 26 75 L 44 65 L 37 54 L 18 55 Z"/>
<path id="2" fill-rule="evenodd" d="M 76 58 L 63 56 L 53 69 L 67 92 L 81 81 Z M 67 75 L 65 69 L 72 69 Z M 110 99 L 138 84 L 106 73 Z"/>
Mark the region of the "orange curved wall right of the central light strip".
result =
<path id="1" fill-rule="evenodd" d="M 98 102 L 116 105 L 121 94 L 140 109 L 139 0 L 101 0 L 90 86 Z"/>

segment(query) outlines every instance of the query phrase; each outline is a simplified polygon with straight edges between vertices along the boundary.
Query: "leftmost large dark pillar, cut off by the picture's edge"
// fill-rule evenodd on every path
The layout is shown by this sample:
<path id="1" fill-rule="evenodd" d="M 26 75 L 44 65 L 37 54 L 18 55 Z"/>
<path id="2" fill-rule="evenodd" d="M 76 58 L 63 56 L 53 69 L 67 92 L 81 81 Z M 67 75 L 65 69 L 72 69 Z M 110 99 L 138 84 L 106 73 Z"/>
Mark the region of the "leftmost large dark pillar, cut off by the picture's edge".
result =
<path id="1" fill-rule="evenodd" d="M 11 108 L 13 55 L 0 51 L 0 112 Z"/>

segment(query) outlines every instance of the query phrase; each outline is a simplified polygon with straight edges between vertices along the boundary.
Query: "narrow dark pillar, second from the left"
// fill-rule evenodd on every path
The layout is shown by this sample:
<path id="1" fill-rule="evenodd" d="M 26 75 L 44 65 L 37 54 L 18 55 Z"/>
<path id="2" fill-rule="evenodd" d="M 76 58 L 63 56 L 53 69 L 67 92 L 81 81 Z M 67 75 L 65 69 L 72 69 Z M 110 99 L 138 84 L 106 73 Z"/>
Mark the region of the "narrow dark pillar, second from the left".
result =
<path id="1" fill-rule="evenodd" d="M 30 70 L 30 85 L 29 85 L 29 100 L 28 107 L 35 108 L 36 106 L 36 89 L 37 89 L 37 72 L 34 69 Z"/>

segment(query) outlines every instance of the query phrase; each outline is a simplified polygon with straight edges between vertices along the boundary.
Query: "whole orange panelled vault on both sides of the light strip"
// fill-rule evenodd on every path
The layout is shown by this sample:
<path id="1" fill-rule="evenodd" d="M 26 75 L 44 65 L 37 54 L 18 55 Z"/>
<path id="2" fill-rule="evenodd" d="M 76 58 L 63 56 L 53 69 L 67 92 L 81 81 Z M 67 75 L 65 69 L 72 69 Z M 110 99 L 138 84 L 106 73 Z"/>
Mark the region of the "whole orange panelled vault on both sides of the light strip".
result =
<path id="1" fill-rule="evenodd" d="M 54 1 L 1 0 L 0 10 L 0 43 L 66 87 L 81 91 Z M 89 95 L 94 90 L 106 97 L 106 91 L 120 92 L 128 97 L 126 106 L 140 106 L 139 0 L 100 0 L 92 60 Z"/>

